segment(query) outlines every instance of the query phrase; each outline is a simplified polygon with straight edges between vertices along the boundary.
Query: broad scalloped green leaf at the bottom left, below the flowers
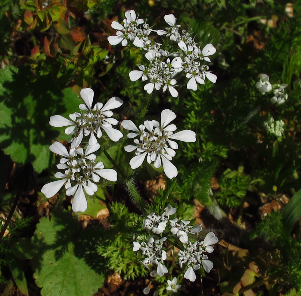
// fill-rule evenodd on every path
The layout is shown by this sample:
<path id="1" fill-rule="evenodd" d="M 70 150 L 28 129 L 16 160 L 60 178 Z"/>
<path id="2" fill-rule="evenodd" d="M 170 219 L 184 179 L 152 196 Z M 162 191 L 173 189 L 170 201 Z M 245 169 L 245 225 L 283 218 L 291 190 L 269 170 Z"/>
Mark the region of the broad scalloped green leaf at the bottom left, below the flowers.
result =
<path id="1" fill-rule="evenodd" d="M 93 244 L 92 236 L 88 240 Z M 101 257 L 95 246 L 95 253 L 85 251 L 86 244 L 79 239 L 78 222 L 72 214 L 57 210 L 50 220 L 40 219 L 32 238 L 37 254 L 31 264 L 42 296 L 92 296 L 103 285 Z"/>

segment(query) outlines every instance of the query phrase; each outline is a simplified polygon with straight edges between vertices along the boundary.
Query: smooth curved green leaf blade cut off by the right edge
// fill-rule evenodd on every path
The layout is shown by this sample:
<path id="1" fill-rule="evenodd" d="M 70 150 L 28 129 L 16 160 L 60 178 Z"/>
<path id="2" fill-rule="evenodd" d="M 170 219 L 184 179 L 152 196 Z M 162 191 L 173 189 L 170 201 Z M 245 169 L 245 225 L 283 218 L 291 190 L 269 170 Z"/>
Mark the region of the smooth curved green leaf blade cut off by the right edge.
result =
<path id="1" fill-rule="evenodd" d="M 282 211 L 283 218 L 283 235 L 286 238 L 290 237 L 290 232 L 301 217 L 301 189 L 297 191 L 290 201 L 286 204 Z"/>

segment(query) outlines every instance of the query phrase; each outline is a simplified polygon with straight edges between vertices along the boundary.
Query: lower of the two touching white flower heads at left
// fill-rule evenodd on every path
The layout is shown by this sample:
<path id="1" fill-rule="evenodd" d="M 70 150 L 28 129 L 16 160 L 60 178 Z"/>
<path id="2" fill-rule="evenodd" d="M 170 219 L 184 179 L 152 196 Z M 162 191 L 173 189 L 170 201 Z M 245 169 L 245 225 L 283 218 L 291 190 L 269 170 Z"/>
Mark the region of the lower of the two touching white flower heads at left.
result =
<path id="1" fill-rule="evenodd" d="M 109 181 L 117 180 L 117 173 L 113 169 L 105 169 L 103 162 L 96 162 L 96 155 L 92 154 L 100 148 L 97 143 L 94 146 L 88 145 L 85 151 L 82 148 L 73 148 L 68 152 L 66 147 L 60 142 L 54 142 L 49 146 L 50 151 L 63 156 L 57 168 L 64 170 L 56 172 L 54 177 L 60 180 L 45 184 L 41 191 L 46 197 L 53 197 L 65 184 L 66 194 L 74 195 L 72 209 L 74 212 L 84 212 L 87 209 L 85 193 L 92 196 L 98 187 L 94 182 L 98 182 L 101 176 Z M 84 193 L 85 191 L 85 193 Z"/>

